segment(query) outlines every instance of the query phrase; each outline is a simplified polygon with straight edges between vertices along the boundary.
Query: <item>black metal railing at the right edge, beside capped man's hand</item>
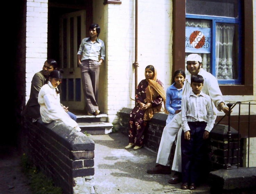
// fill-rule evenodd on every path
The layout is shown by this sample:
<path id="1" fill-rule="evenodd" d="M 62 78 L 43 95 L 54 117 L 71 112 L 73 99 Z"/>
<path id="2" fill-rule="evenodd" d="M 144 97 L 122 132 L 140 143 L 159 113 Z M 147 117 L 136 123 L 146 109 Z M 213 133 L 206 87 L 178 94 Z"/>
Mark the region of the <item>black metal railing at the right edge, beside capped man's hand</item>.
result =
<path id="1" fill-rule="evenodd" d="M 237 168 L 239 168 L 239 159 L 240 159 L 240 116 L 241 116 L 241 105 L 248 105 L 248 130 L 247 130 L 247 134 L 248 134 L 248 150 L 247 150 L 247 167 L 249 167 L 249 159 L 250 159 L 250 110 L 251 110 L 251 105 L 256 105 L 254 103 L 241 103 L 241 102 L 236 102 L 236 103 L 228 103 L 227 106 L 229 107 L 229 115 L 228 115 L 228 161 L 227 164 L 225 164 L 224 168 L 225 169 L 231 169 L 232 166 L 230 165 L 230 160 L 229 160 L 229 152 L 230 152 L 230 139 L 231 139 L 231 131 L 230 131 L 230 126 L 231 126 L 231 122 L 230 122 L 230 118 L 231 118 L 231 110 L 238 105 L 238 152 L 237 152 L 237 158 L 238 158 L 238 162 L 237 162 Z M 226 115 L 224 115 L 220 121 L 218 121 L 217 124 L 219 124 L 222 119 L 225 117 Z"/>

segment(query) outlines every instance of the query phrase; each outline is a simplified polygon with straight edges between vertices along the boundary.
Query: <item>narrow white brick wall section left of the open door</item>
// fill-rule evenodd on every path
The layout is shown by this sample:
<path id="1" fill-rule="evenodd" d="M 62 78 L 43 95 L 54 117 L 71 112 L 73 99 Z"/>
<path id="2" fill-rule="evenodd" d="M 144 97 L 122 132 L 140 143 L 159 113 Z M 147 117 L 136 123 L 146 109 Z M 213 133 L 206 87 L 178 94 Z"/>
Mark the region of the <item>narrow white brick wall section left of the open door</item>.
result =
<path id="1" fill-rule="evenodd" d="M 26 102 L 31 80 L 47 59 L 48 0 L 28 0 L 26 17 Z"/>

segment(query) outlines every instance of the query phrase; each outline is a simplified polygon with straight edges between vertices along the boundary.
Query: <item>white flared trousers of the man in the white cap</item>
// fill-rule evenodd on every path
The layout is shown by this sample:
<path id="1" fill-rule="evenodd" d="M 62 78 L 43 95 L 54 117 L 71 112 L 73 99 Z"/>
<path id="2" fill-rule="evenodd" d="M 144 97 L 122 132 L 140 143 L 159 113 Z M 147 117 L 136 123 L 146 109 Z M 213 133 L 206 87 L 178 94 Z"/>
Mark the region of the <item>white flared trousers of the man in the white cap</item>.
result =
<path id="1" fill-rule="evenodd" d="M 158 153 L 157 153 L 157 159 L 156 163 L 161 164 L 164 166 L 170 166 L 169 164 L 169 159 L 170 159 L 170 153 L 171 153 L 171 148 L 173 145 L 173 142 L 175 141 L 175 137 L 179 130 L 182 130 L 181 123 L 182 123 L 182 113 L 175 114 L 172 121 L 168 123 L 163 130 L 162 138 L 160 141 Z M 181 135 L 181 133 L 180 133 Z M 178 140 L 180 141 L 180 136 L 177 137 Z M 180 143 L 180 142 L 179 142 Z M 176 149 L 178 146 L 178 142 L 176 145 Z M 180 147 L 180 144 L 179 144 Z M 181 148 L 180 148 L 181 150 Z M 175 150 L 176 152 L 176 150 Z M 174 157 L 175 158 L 175 157 Z M 181 169 L 181 157 L 180 161 L 175 161 L 175 164 L 180 164 L 180 169 Z"/>

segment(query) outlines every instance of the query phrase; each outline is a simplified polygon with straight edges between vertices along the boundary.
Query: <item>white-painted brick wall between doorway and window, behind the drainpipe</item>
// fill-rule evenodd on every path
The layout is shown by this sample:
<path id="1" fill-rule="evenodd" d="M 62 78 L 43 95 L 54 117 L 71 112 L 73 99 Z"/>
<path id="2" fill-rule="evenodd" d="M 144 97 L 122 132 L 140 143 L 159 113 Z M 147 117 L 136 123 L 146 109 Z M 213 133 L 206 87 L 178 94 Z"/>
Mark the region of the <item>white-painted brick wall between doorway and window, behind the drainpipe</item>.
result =
<path id="1" fill-rule="evenodd" d="M 107 109 L 110 122 L 123 107 L 134 107 L 135 1 L 108 5 Z M 138 2 L 138 83 L 152 64 L 166 88 L 171 83 L 172 1 Z"/>

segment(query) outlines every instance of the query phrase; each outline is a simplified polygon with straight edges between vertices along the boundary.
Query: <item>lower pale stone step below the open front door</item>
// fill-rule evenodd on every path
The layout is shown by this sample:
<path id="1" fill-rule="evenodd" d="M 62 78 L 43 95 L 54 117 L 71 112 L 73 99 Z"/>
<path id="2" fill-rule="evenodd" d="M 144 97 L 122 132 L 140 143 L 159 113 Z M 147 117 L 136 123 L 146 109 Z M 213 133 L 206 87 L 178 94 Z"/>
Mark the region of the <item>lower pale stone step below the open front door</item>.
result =
<path id="1" fill-rule="evenodd" d="M 108 134 L 112 132 L 112 123 L 106 122 L 89 122 L 89 123 L 78 123 L 81 128 L 81 132 L 86 131 L 92 135 Z"/>

